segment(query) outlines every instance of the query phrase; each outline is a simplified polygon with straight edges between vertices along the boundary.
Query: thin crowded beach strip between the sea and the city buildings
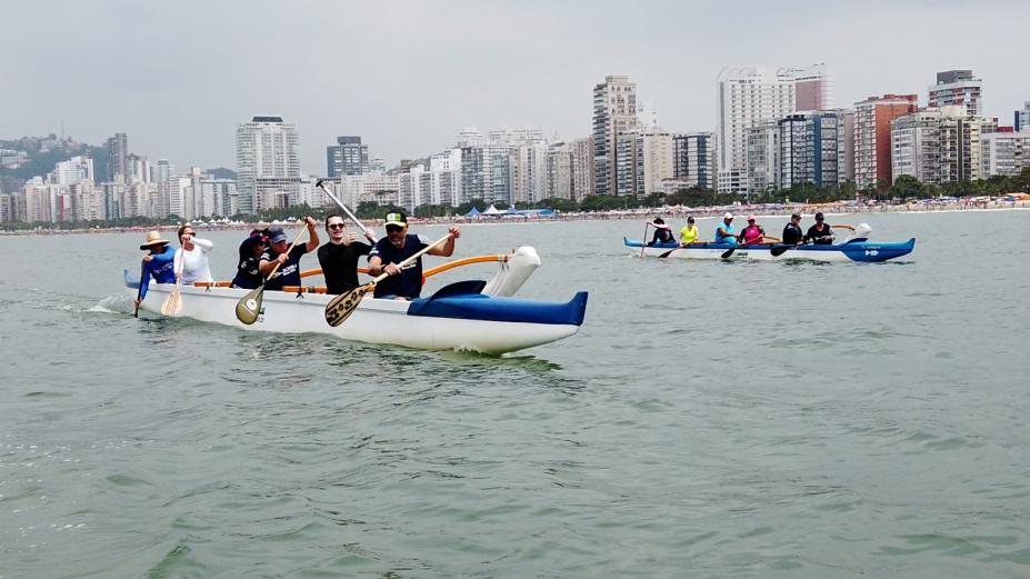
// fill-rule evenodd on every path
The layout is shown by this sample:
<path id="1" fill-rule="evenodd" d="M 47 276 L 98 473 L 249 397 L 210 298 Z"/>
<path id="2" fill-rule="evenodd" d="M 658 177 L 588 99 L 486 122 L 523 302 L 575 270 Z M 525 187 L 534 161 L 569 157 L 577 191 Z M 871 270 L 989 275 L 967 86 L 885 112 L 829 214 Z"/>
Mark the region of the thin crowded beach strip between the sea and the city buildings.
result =
<path id="1" fill-rule="evenodd" d="M 857 206 L 853 203 L 822 203 L 822 204 L 798 204 L 798 206 L 730 206 L 730 207 L 706 207 L 706 208 L 687 208 L 682 206 L 667 208 L 639 208 L 614 211 L 601 211 L 590 213 L 558 213 L 553 217 L 522 217 L 509 216 L 500 218 L 468 218 L 468 217 L 434 217 L 434 218 L 414 218 L 409 217 L 412 226 L 447 226 L 447 224 L 466 224 L 466 226 L 496 226 L 511 223 L 557 223 L 567 221 L 639 221 L 652 220 L 656 217 L 682 219 L 688 216 L 696 219 L 714 219 L 727 211 L 734 216 L 754 214 L 757 217 L 786 218 L 793 212 L 802 216 L 811 216 L 821 211 L 832 216 L 847 214 L 872 214 L 872 213 L 962 213 L 962 212 L 983 212 L 983 211 L 1020 211 L 1030 210 L 1030 201 L 969 201 L 969 202 L 948 202 L 934 203 L 903 203 L 903 204 L 876 204 L 876 206 Z M 784 212 L 786 211 L 786 212 Z M 299 221 L 299 220 L 298 220 Z M 250 223 L 206 223 L 197 222 L 197 228 L 203 231 L 250 231 L 271 226 L 290 227 L 298 221 L 257 221 Z M 362 220 L 367 227 L 382 227 L 382 219 Z M 112 227 L 112 228 L 88 228 L 88 229 L 31 229 L 22 231 L 0 231 L 3 236 L 67 236 L 67 234 L 107 234 L 107 233 L 140 233 L 147 231 L 176 231 L 179 226 L 134 226 L 134 227 Z"/>

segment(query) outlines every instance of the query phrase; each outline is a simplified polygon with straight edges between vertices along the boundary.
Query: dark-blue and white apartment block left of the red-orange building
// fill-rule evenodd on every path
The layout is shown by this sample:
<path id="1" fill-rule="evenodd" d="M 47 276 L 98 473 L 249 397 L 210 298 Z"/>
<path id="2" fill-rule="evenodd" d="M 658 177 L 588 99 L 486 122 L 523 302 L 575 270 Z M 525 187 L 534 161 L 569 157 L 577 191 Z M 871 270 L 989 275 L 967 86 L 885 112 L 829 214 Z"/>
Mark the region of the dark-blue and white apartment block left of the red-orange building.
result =
<path id="1" fill-rule="evenodd" d="M 812 183 L 839 187 L 849 179 L 852 124 L 850 111 L 789 114 L 779 121 L 779 186 Z"/>

